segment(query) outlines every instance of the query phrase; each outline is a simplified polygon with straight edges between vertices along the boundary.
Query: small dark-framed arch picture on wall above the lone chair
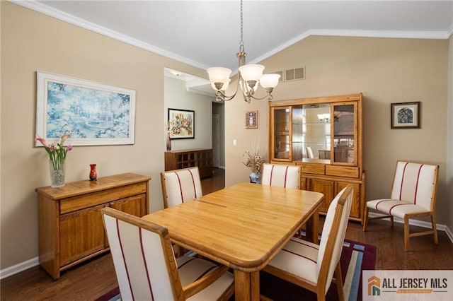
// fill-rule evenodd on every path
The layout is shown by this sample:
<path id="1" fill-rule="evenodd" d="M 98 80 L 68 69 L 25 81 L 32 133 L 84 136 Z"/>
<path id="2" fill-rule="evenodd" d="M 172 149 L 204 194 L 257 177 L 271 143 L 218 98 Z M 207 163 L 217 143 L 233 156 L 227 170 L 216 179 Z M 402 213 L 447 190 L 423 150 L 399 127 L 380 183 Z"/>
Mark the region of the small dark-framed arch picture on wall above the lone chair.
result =
<path id="1" fill-rule="evenodd" d="M 392 103 L 391 129 L 420 129 L 420 102 Z"/>

